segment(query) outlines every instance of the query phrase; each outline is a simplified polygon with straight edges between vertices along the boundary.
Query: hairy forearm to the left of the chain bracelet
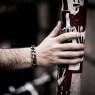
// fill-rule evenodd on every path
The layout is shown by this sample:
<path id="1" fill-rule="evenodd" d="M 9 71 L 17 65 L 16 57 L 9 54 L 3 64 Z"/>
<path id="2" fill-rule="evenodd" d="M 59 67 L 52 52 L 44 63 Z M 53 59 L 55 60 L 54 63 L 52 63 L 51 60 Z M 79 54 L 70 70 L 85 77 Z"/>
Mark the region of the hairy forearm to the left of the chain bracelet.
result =
<path id="1" fill-rule="evenodd" d="M 31 48 L 0 49 L 1 69 L 24 69 L 31 66 Z"/>

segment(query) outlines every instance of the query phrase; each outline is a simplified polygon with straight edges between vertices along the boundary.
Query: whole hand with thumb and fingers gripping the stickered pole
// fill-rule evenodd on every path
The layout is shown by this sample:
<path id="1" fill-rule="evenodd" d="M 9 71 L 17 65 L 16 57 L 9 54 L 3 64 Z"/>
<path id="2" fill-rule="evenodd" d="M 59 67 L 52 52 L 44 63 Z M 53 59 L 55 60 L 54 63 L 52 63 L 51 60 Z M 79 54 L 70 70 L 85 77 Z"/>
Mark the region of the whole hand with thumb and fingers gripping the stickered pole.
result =
<path id="1" fill-rule="evenodd" d="M 84 44 L 63 43 L 66 40 L 80 37 L 78 32 L 60 34 L 61 22 L 44 41 L 36 47 L 37 64 L 39 66 L 54 66 L 58 64 L 77 64 L 84 55 Z"/>

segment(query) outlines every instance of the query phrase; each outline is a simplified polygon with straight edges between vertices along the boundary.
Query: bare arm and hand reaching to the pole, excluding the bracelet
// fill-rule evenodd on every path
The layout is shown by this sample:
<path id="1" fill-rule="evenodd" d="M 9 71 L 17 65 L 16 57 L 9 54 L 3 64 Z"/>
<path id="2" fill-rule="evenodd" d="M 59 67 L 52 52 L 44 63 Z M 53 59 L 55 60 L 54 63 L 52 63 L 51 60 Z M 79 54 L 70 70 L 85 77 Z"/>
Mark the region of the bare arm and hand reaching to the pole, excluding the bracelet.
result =
<path id="1" fill-rule="evenodd" d="M 66 40 L 80 37 L 80 33 L 64 33 L 58 36 L 60 30 L 61 22 L 35 48 L 38 66 L 49 67 L 57 64 L 77 64 L 81 62 L 79 57 L 84 54 L 84 44 L 63 43 Z M 0 49 L 0 68 L 23 69 L 31 66 L 30 47 Z"/>

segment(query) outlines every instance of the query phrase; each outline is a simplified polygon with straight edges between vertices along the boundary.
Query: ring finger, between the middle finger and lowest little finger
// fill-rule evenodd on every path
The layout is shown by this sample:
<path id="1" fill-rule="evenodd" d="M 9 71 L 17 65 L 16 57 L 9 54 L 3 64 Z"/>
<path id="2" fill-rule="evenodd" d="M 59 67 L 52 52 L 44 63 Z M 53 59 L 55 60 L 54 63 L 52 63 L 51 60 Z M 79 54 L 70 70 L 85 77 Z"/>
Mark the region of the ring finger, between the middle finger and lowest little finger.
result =
<path id="1" fill-rule="evenodd" d="M 79 58 L 84 55 L 84 51 L 64 51 L 59 52 L 58 56 L 60 58 Z"/>

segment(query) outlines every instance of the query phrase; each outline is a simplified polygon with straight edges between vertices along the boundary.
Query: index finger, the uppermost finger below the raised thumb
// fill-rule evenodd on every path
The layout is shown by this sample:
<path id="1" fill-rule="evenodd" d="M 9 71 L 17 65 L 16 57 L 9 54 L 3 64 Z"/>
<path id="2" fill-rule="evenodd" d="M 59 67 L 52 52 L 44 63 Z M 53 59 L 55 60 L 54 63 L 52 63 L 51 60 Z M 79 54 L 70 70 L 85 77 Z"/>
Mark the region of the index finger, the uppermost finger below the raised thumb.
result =
<path id="1" fill-rule="evenodd" d="M 80 33 L 78 32 L 69 32 L 69 33 L 63 33 L 57 37 L 55 37 L 55 39 L 58 42 L 64 42 L 66 40 L 70 40 L 70 39 L 75 39 L 75 38 L 79 38 L 81 36 Z"/>

